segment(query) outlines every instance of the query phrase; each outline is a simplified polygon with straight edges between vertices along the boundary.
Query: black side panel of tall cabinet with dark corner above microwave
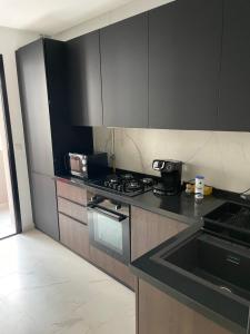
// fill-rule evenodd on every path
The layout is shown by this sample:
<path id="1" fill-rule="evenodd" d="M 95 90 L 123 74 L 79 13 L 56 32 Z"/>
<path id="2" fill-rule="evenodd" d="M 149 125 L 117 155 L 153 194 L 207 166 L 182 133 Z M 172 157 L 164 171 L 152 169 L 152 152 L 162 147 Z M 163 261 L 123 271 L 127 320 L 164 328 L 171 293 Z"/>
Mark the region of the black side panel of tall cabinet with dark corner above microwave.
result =
<path id="1" fill-rule="evenodd" d="M 70 122 L 66 43 L 44 39 L 44 57 L 53 164 L 57 173 L 64 167 L 63 158 L 67 153 L 92 153 L 92 129 L 73 127 Z"/>

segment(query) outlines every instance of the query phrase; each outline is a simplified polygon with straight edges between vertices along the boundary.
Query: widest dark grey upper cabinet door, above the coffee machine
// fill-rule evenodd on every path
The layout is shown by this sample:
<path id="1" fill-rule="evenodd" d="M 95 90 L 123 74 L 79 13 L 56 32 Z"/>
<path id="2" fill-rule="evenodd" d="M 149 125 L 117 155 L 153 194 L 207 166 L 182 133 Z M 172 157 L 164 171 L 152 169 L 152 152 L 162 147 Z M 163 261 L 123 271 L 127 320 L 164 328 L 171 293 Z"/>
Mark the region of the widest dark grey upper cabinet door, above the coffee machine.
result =
<path id="1" fill-rule="evenodd" d="M 149 12 L 149 126 L 214 129 L 222 0 L 178 0 Z"/>

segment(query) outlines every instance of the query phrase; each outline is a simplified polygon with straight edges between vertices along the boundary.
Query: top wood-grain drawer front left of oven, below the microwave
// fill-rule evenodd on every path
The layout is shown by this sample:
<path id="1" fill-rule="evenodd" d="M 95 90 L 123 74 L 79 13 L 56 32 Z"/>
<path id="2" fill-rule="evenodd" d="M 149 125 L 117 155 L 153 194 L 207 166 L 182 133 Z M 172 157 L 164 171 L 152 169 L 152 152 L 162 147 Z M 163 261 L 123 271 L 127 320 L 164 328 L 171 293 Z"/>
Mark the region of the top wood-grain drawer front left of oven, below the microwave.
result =
<path id="1" fill-rule="evenodd" d="M 57 194 L 78 204 L 87 205 L 87 190 L 84 188 L 57 180 Z"/>

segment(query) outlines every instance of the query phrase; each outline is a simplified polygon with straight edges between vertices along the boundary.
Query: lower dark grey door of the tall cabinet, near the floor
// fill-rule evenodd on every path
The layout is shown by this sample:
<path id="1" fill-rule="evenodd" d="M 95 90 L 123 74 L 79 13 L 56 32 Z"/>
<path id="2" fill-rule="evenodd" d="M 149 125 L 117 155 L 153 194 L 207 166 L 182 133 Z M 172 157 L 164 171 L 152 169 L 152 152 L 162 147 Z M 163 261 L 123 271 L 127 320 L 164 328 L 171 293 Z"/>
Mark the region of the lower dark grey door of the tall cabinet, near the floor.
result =
<path id="1" fill-rule="evenodd" d="M 31 193 L 36 227 L 59 240 L 54 179 L 31 173 Z"/>

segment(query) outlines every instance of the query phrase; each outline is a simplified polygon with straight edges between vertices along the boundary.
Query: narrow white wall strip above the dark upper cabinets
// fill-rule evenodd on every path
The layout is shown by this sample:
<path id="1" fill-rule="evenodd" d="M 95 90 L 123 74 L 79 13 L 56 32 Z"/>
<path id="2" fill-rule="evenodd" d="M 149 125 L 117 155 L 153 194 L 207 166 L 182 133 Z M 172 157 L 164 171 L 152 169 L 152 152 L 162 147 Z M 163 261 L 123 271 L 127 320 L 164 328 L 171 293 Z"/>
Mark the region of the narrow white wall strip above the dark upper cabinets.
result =
<path id="1" fill-rule="evenodd" d="M 123 19 L 127 19 L 129 17 L 136 16 L 140 12 L 150 10 L 152 8 L 159 7 L 161 4 L 171 1 L 173 0 L 133 0 L 122 7 L 119 7 L 114 10 L 107 12 L 106 14 L 82 22 L 81 24 L 78 24 L 69 30 L 56 35 L 54 38 L 61 40 L 68 40 L 77 36 L 90 32 L 92 30 L 103 28 L 117 21 L 121 21 Z"/>

